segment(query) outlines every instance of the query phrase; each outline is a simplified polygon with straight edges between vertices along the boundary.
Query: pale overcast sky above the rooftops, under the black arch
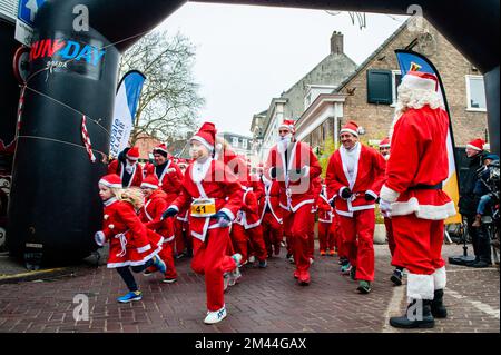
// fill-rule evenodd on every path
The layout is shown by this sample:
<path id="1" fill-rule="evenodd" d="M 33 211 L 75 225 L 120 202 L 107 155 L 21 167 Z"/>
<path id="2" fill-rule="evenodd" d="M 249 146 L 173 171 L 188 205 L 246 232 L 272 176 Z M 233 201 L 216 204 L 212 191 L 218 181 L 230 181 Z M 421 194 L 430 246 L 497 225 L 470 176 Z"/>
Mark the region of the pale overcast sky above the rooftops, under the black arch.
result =
<path id="1" fill-rule="evenodd" d="M 250 135 L 253 115 L 330 53 L 333 31 L 343 32 L 345 53 L 360 65 L 405 19 L 367 13 L 361 30 L 348 12 L 188 2 L 160 28 L 196 47 L 194 75 L 206 99 L 200 122 Z"/>

